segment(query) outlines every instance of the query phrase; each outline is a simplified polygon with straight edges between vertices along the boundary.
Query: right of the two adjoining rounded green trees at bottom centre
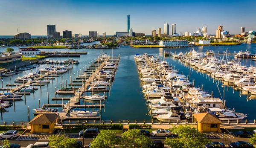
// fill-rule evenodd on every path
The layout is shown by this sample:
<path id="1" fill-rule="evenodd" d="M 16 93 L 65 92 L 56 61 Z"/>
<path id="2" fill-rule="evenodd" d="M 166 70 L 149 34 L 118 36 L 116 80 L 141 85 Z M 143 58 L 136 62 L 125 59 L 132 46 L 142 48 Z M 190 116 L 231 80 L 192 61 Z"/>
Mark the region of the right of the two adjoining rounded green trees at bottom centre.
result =
<path id="1" fill-rule="evenodd" d="M 148 136 L 141 134 L 139 129 L 128 130 L 122 133 L 120 148 L 149 148 L 151 139 Z"/>

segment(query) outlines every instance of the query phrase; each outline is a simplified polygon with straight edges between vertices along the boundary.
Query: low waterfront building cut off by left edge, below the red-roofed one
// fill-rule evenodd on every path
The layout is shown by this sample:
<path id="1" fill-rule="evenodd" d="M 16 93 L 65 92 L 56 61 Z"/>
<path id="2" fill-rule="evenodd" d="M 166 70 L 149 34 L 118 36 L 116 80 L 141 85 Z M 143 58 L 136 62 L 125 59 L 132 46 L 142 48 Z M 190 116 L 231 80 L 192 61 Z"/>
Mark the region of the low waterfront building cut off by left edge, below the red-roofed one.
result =
<path id="1" fill-rule="evenodd" d="M 9 66 L 21 62 L 21 53 L 0 53 L 0 67 Z"/>

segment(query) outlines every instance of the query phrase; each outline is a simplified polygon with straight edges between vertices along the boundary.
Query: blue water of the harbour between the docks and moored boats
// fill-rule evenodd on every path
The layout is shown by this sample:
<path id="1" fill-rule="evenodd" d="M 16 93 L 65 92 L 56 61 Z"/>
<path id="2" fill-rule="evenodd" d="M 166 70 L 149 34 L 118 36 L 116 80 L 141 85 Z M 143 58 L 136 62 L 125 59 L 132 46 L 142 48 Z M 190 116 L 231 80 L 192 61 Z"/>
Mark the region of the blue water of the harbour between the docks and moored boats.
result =
<path id="1" fill-rule="evenodd" d="M 19 47 L 13 47 L 15 51 L 18 51 Z M 249 50 L 252 53 L 256 53 L 256 44 L 241 44 L 239 46 L 206 46 L 206 47 L 195 47 L 196 50 L 204 52 L 206 50 L 214 50 L 215 52 L 220 51 L 223 52 L 226 49 L 229 49 L 230 52 L 238 52 L 240 50 Z M 88 52 L 87 55 L 81 55 L 80 58 L 77 58 L 80 61 L 80 64 L 74 65 L 72 73 L 76 73 L 80 69 L 83 69 L 86 64 L 96 58 L 99 54 L 101 54 L 101 49 L 41 49 L 42 51 L 85 51 Z M 127 120 L 127 119 L 150 119 L 150 116 L 146 116 L 148 112 L 147 107 L 145 106 L 145 100 L 143 99 L 142 88 L 140 87 L 141 82 L 139 80 L 139 75 L 137 73 L 136 64 L 134 61 L 134 55 L 136 53 L 143 54 L 147 52 L 149 55 L 160 55 L 163 57 L 164 50 L 169 50 L 172 52 L 186 52 L 189 51 L 189 48 L 178 48 L 178 49 L 137 49 L 131 48 L 130 46 L 124 46 L 119 49 L 113 49 L 113 55 L 115 57 L 120 55 L 120 63 L 118 70 L 116 72 L 115 81 L 111 87 L 111 95 L 108 97 L 108 103 L 106 102 L 105 112 L 102 112 L 102 119 L 104 120 Z M 5 51 L 5 48 L 0 48 L 0 52 Z M 111 55 L 111 49 L 104 49 L 104 53 Z M 233 56 L 229 57 L 230 59 Z M 51 58 L 54 61 L 60 60 L 60 58 Z M 64 61 L 67 58 L 61 58 L 61 61 Z M 47 59 L 49 60 L 49 58 Z M 190 70 L 188 67 L 184 67 L 178 61 L 174 61 L 171 58 L 166 58 L 166 61 L 169 64 L 175 66 L 175 69 L 179 69 L 180 73 L 183 72 L 184 75 L 190 75 L 189 79 L 195 79 L 195 85 L 200 86 L 203 84 L 204 90 L 208 90 L 209 92 L 213 91 L 215 97 L 222 96 L 223 98 L 223 87 L 221 82 L 217 81 L 218 87 L 220 89 L 220 93 L 217 87 L 216 82 L 213 82 L 212 78 L 205 74 L 201 74 L 195 72 L 194 70 Z M 255 66 L 255 61 L 250 60 L 241 60 L 241 62 L 250 66 L 252 64 Z M 45 65 L 41 65 L 45 67 Z M 41 67 L 40 67 L 41 68 Z M 32 69 L 32 71 L 36 71 L 36 69 Z M 190 72 L 189 72 L 190 71 Z M 192 72 L 193 71 L 193 72 Z M 26 72 L 26 74 L 30 73 L 30 70 Z M 20 73 L 20 75 L 25 75 L 25 72 Z M 72 74 L 73 76 L 73 74 Z M 12 76 L 12 82 L 17 77 L 17 75 Z M 64 83 L 65 79 L 70 83 L 70 73 L 65 73 L 63 75 Z M 10 78 L 3 78 L 4 87 L 5 84 L 8 84 Z M 7 108 L 8 112 L 3 113 L 3 121 L 27 121 L 27 107 L 30 107 L 30 115 L 34 113 L 32 109 L 38 108 L 38 99 L 41 99 L 41 105 L 47 102 L 47 92 L 49 92 L 49 103 L 58 103 L 61 104 L 61 101 L 52 101 L 51 98 L 55 97 L 54 91 L 55 87 L 60 87 L 61 77 L 58 77 L 55 80 L 52 80 L 48 86 L 41 87 L 39 90 L 36 90 L 35 93 L 26 96 L 26 101 L 24 97 L 22 97 L 23 101 L 15 102 L 15 111 L 14 106 Z M 1 84 L 0 84 L 1 85 Z M 72 95 L 57 95 L 57 97 L 68 97 Z M 254 106 L 256 105 L 255 100 L 246 99 L 247 95 L 241 95 L 239 91 L 233 91 L 232 87 L 229 87 L 227 90 L 227 86 L 225 87 L 225 99 L 227 100 L 227 107 L 236 108 L 237 112 L 248 113 L 247 119 L 256 119 L 256 115 L 254 114 Z M 65 101 L 66 103 L 67 101 Z M 82 102 L 81 102 L 82 104 Z M 90 108 L 89 110 L 92 110 Z M 61 108 L 59 108 L 61 110 Z M 30 120 L 32 117 L 30 118 Z"/>

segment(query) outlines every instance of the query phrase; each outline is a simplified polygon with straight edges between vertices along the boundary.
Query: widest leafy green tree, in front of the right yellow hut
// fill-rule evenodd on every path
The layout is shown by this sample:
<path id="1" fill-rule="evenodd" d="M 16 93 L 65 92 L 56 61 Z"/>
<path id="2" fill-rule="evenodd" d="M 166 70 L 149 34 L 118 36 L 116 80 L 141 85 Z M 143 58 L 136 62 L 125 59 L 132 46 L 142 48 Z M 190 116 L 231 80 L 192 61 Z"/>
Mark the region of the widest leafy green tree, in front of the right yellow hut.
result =
<path id="1" fill-rule="evenodd" d="M 178 136 L 165 140 L 166 145 L 171 148 L 204 148 L 205 144 L 211 142 L 204 133 L 198 132 L 197 128 L 191 125 L 174 126 L 171 131 Z"/>

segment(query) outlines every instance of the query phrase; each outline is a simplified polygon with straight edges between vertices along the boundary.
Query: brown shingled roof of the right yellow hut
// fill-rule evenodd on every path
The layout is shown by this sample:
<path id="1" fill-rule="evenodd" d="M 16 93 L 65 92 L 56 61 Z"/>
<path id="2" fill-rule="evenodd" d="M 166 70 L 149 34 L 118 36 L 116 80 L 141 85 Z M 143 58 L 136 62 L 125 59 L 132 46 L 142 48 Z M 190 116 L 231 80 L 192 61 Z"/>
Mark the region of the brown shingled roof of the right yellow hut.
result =
<path id="1" fill-rule="evenodd" d="M 193 116 L 199 123 L 222 123 L 221 120 L 212 113 L 194 113 Z"/>

